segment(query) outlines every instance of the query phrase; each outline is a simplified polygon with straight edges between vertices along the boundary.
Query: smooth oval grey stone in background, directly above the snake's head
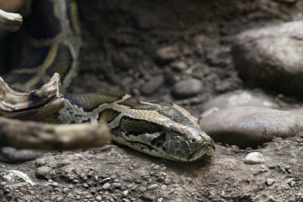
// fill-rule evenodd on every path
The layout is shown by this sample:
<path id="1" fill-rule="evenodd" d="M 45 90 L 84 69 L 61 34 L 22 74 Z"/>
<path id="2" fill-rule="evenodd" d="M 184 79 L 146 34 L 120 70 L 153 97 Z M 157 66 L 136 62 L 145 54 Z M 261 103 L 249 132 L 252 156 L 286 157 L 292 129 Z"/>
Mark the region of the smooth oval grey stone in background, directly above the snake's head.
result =
<path id="1" fill-rule="evenodd" d="M 175 83 L 172 94 L 175 98 L 189 98 L 201 93 L 203 83 L 198 79 L 184 79 Z"/>

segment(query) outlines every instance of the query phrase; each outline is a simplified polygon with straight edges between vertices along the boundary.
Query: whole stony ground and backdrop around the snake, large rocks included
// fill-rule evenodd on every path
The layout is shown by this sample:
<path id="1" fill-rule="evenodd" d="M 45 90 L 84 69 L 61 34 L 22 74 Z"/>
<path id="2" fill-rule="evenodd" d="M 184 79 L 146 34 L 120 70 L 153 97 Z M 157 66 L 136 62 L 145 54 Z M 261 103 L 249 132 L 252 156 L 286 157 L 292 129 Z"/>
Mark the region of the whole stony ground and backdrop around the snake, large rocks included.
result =
<path id="1" fill-rule="evenodd" d="M 78 7 L 81 71 L 70 91 L 173 101 L 200 119 L 215 155 L 179 163 L 119 145 L 43 153 L 0 163 L 0 201 L 303 201 L 303 1 Z M 247 164 L 251 152 L 260 164 Z"/>

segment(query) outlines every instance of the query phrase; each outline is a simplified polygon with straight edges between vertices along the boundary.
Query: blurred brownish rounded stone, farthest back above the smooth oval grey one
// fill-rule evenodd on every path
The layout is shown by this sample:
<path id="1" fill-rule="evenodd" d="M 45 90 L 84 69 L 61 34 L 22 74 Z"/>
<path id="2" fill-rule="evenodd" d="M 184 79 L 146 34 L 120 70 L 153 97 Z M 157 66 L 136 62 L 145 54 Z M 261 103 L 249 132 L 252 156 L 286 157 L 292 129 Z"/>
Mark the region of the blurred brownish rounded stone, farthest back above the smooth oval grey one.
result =
<path id="1" fill-rule="evenodd" d="M 155 60 L 161 64 L 168 64 L 179 56 L 180 52 L 177 46 L 166 46 L 156 51 Z"/>

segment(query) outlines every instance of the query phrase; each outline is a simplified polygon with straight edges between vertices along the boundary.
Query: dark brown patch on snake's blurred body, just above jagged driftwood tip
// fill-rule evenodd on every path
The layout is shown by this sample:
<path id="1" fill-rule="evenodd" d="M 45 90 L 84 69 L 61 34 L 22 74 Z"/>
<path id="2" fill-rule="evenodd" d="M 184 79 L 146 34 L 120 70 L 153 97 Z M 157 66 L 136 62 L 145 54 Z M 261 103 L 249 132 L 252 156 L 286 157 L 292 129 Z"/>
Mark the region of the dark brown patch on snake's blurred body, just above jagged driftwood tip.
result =
<path id="1" fill-rule="evenodd" d="M 57 72 L 62 79 L 72 68 L 72 55 L 68 46 L 59 44 L 54 62 L 45 70 L 46 75 L 52 76 Z"/>

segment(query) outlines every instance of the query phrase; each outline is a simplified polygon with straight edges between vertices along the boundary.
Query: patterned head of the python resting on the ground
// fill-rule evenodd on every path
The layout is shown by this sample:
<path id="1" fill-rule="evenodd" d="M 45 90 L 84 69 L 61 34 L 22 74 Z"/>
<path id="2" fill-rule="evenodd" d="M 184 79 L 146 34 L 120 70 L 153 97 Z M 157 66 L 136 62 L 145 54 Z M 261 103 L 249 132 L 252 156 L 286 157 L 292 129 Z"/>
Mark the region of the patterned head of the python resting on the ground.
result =
<path id="1" fill-rule="evenodd" d="M 214 140 L 201 130 L 197 119 L 173 103 L 137 100 L 112 133 L 120 144 L 175 161 L 204 159 L 215 151 Z"/>

